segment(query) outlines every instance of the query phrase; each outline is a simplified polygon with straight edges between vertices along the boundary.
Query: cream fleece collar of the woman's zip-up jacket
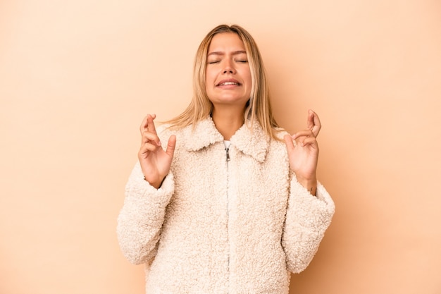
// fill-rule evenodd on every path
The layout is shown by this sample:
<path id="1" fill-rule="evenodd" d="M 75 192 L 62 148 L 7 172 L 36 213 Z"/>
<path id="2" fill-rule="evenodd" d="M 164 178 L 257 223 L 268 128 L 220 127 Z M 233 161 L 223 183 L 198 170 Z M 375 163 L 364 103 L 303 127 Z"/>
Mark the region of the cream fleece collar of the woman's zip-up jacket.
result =
<path id="1" fill-rule="evenodd" d="M 209 117 L 203 121 L 199 121 L 194 126 L 194 129 L 192 125 L 185 127 L 183 129 L 182 140 L 185 144 L 185 149 L 188 151 L 197 151 L 216 142 L 222 142 L 223 136 L 216 129 L 211 117 Z M 244 154 L 254 157 L 257 161 L 262 162 L 265 160 L 269 141 L 268 136 L 258 121 L 254 121 L 252 127 L 247 126 L 247 123 L 242 125 L 242 127 L 232 135 L 230 142 L 232 146 Z"/>

